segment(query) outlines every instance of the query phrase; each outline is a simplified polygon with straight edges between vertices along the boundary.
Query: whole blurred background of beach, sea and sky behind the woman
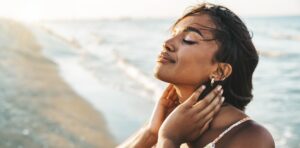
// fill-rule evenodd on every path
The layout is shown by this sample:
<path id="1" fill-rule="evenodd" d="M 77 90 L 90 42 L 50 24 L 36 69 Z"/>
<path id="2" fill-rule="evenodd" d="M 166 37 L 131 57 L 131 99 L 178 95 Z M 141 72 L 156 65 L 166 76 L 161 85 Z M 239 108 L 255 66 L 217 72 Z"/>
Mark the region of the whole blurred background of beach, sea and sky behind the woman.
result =
<path id="1" fill-rule="evenodd" d="M 0 0 L 0 147 L 114 147 L 150 117 L 169 28 L 197 0 Z M 260 53 L 246 113 L 300 147 L 300 1 L 209 0 Z"/>

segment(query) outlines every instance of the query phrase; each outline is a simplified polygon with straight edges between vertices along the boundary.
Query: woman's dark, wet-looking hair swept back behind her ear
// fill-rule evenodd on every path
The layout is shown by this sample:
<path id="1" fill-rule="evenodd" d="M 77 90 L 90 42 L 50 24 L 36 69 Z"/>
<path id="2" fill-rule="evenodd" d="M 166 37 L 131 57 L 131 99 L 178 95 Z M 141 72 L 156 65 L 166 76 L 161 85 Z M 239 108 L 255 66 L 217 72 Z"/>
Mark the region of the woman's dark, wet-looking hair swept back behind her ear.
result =
<path id="1" fill-rule="evenodd" d="M 243 21 L 224 6 L 202 3 L 192 7 L 179 18 L 173 28 L 188 16 L 206 14 L 216 25 L 213 31 L 219 45 L 214 60 L 232 66 L 231 75 L 223 84 L 225 102 L 245 110 L 252 100 L 252 75 L 258 64 L 258 53 L 252 43 L 251 35 Z"/>

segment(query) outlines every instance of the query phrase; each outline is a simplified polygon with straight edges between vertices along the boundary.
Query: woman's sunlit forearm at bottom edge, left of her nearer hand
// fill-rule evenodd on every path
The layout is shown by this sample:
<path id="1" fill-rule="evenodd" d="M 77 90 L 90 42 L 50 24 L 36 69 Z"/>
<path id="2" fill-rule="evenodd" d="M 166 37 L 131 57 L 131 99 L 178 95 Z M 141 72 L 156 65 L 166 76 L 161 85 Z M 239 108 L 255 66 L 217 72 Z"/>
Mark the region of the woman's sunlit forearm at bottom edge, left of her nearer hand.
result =
<path id="1" fill-rule="evenodd" d="M 157 135 L 148 130 L 147 127 L 141 128 L 136 134 L 128 138 L 124 143 L 118 146 L 118 148 L 151 148 L 157 142 Z"/>

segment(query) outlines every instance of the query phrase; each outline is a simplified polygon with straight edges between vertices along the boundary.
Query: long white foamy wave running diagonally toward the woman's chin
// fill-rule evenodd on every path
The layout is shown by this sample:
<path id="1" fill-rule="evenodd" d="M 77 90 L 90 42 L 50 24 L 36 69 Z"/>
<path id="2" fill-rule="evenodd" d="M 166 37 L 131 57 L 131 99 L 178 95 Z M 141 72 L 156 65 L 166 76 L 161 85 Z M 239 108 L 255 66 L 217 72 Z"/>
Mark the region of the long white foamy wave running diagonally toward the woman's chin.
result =
<path id="1" fill-rule="evenodd" d="M 106 47 L 106 51 L 104 52 L 107 55 L 113 55 L 113 60 L 108 60 L 108 57 L 105 57 L 104 55 L 95 55 L 97 53 L 93 53 L 94 49 L 89 49 L 88 46 L 80 44 L 80 42 L 76 41 L 76 38 L 73 38 L 72 40 L 76 41 L 76 44 L 74 45 L 73 42 L 70 41 L 70 39 L 65 38 L 63 35 L 60 35 L 59 32 L 56 32 L 48 27 L 42 27 L 43 30 L 45 30 L 48 34 L 58 38 L 59 40 L 71 45 L 72 47 L 75 47 L 76 49 L 80 50 L 79 57 L 81 58 L 81 64 L 83 67 L 85 67 L 89 72 L 93 73 L 100 81 L 103 81 L 103 75 L 99 74 L 96 69 L 98 69 L 99 65 L 101 64 L 95 64 L 97 62 L 109 62 L 111 65 L 116 65 L 117 69 L 120 69 L 125 76 L 130 77 L 135 83 L 137 83 L 139 86 L 142 86 L 141 90 L 134 90 L 134 93 L 137 93 L 141 96 L 153 96 L 154 101 L 158 98 L 158 96 L 161 94 L 161 86 L 157 83 L 153 82 L 153 79 L 149 78 L 146 74 L 144 74 L 138 67 L 135 67 L 130 62 L 128 62 L 124 57 L 122 57 L 119 53 L 117 53 L 116 50 L 108 49 Z M 97 44 L 103 43 L 103 39 L 99 37 L 96 34 L 91 34 L 93 38 L 98 39 Z M 93 48 L 99 48 L 99 47 L 93 47 Z M 111 63 L 115 62 L 115 63 Z M 103 63 L 103 64 L 104 64 Z M 98 66 L 97 66 L 98 65 Z M 103 70 L 106 71 L 106 70 Z M 132 81 L 128 80 L 128 81 Z M 127 84 L 125 84 L 126 87 Z M 130 88 L 129 88 L 130 89 Z M 128 90 L 128 89 L 125 89 Z M 132 90 L 130 90 L 132 92 Z"/>

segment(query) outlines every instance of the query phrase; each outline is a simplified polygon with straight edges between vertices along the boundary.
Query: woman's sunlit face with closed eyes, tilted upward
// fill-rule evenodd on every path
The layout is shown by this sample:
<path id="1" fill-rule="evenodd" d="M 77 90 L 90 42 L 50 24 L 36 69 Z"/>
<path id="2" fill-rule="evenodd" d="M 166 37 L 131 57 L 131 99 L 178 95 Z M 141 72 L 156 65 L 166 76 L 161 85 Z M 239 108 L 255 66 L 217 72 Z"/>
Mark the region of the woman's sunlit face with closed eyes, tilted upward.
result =
<path id="1" fill-rule="evenodd" d="M 210 28 L 210 29 L 209 29 Z M 154 69 L 155 76 L 175 85 L 200 85 L 217 69 L 213 57 L 218 50 L 213 39 L 212 19 L 206 15 L 188 16 L 173 29 Z"/>

